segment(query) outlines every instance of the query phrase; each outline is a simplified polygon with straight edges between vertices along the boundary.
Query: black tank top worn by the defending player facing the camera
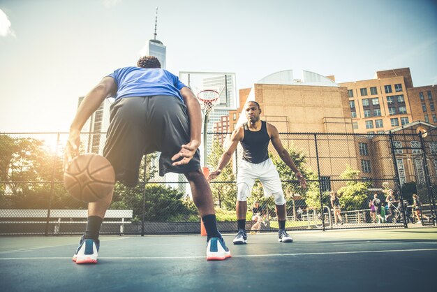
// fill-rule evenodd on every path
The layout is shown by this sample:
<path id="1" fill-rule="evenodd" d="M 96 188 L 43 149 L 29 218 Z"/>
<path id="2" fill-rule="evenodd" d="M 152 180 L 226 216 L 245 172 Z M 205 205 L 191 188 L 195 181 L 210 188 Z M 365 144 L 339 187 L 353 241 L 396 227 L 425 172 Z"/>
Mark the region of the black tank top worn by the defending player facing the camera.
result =
<path id="1" fill-rule="evenodd" d="M 250 131 L 247 123 L 243 124 L 244 138 L 242 140 L 243 159 L 251 163 L 261 163 L 269 159 L 270 137 L 267 124 L 261 121 L 260 131 Z"/>

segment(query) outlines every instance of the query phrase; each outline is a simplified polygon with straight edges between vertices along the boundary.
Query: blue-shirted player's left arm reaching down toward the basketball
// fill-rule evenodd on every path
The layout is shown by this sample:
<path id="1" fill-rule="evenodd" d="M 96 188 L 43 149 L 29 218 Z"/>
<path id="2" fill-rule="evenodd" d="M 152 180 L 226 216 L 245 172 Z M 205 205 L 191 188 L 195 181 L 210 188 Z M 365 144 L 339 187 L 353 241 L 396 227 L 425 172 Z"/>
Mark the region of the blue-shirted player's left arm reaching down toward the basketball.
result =
<path id="1" fill-rule="evenodd" d="M 100 107 L 105 98 L 114 96 L 116 93 L 117 83 L 114 78 L 107 76 L 91 89 L 82 103 L 80 103 L 75 118 L 70 126 L 70 134 L 64 154 L 64 170 L 68 168 L 71 160 L 79 155 L 80 130 L 82 130 L 87 119 Z"/>

